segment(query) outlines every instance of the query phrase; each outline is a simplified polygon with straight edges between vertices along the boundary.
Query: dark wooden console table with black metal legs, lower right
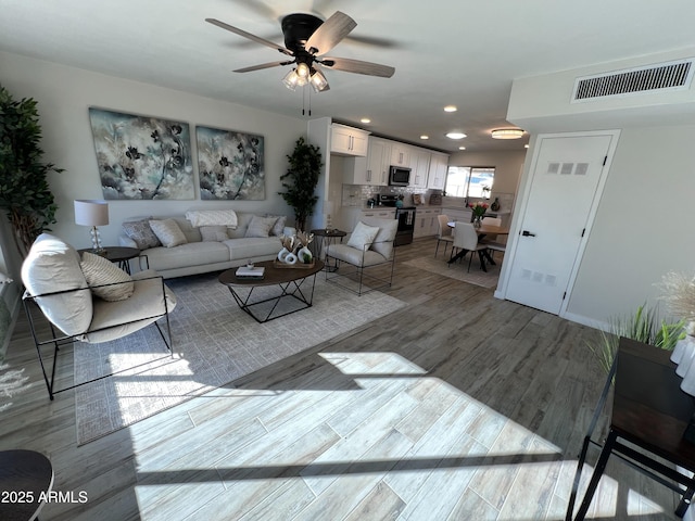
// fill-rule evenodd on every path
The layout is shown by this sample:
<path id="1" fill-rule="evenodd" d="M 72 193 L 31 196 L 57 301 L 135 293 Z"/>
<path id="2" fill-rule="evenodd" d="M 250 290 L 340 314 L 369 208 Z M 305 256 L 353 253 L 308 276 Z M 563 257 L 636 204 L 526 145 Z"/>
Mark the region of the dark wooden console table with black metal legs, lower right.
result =
<path id="1" fill-rule="evenodd" d="M 695 444 L 683 437 L 695 412 L 695 402 L 692 396 L 681 391 L 681 378 L 675 374 L 675 365 L 671 363 L 670 355 L 671 352 L 658 347 L 620 339 L 604 393 L 584 439 L 566 520 L 572 519 L 586 450 L 592 443 L 598 445 L 591 436 L 604 408 L 614 376 L 610 429 L 574 519 L 583 520 L 586 516 L 611 455 L 620 457 L 649 478 L 682 495 L 675 514 L 683 517 L 685 513 L 695 490 L 695 480 L 678 472 L 673 466 L 695 471 Z M 627 445 L 626 442 L 631 445 Z M 659 458 L 671 465 L 665 465 Z M 677 483 L 684 485 L 686 490 L 681 490 Z"/>

